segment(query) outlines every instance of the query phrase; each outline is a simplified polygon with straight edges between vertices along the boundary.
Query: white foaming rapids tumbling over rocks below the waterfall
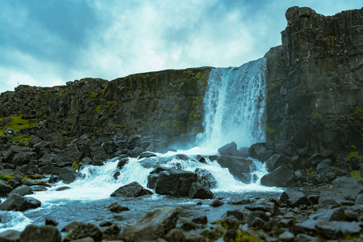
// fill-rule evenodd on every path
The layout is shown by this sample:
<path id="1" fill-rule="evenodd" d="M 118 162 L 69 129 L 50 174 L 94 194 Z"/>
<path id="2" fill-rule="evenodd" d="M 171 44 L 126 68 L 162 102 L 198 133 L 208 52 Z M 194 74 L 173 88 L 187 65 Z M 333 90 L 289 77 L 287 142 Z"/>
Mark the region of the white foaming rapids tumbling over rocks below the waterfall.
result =
<path id="1" fill-rule="evenodd" d="M 251 166 L 251 174 L 256 174 L 258 180 L 256 183 L 245 184 L 236 180 L 227 168 L 221 167 L 217 161 L 210 161 L 208 156 L 203 153 L 197 154 L 205 155 L 207 164 L 200 163 L 196 160 L 196 151 L 203 152 L 203 149 L 193 148 L 191 150 L 180 150 L 178 152 L 168 152 L 166 154 L 159 154 L 158 157 L 143 158 L 130 158 L 125 166 L 120 170 L 118 180 L 115 180 L 113 175 L 118 170 L 118 159 L 114 158 L 109 160 L 104 166 L 91 166 L 87 165 L 81 170 L 83 178 L 78 178 L 70 184 L 58 182 L 49 188 L 47 191 L 36 192 L 29 195 L 42 201 L 42 203 L 50 203 L 57 205 L 58 203 L 68 200 L 99 200 L 109 198 L 120 186 L 124 186 L 131 182 L 137 181 L 146 188 L 148 174 L 157 166 L 168 168 L 175 168 L 178 166 L 183 170 L 194 172 L 196 168 L 205 169 L 212 174 L 217 181 L 215 188 L 211 189 L 216 191 L 278 191 L 280 189 L 274 187 L 265 187 L 260 185 L 260 179 L 267 174 L 267 170 L 261 161 L 254 160 Z M 179 160 L 174 156 L 176 154 L 185 154 L 189 157 L 188 160 Z M 56 191 L 61 186 L 69 186 L 71 189 Z M 155 198 L 162 198 L 156 196 Z M 62 199 L 62 200 L 60 200 Z"/>

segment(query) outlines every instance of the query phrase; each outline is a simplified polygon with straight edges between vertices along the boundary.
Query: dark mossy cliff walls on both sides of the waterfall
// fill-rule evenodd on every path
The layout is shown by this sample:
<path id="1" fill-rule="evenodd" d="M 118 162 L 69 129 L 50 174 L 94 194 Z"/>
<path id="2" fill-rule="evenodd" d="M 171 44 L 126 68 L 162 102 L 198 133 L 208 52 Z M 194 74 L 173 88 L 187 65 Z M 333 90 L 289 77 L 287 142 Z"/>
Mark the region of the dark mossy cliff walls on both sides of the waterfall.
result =
<path id="1" fill-rule="evenodd" d="M 267 141 L 289 156 L 362 149 L 363 8 L 323 16 L 291 7 L 285 16 L 282 45 L 265 55 Z M 203 131 L 211 69 L 84 78 L 52 88 L 21 85 L 1 93 L 0 117 L 21 112 L 74 137 L 121 132 L 188 140 Z"/>

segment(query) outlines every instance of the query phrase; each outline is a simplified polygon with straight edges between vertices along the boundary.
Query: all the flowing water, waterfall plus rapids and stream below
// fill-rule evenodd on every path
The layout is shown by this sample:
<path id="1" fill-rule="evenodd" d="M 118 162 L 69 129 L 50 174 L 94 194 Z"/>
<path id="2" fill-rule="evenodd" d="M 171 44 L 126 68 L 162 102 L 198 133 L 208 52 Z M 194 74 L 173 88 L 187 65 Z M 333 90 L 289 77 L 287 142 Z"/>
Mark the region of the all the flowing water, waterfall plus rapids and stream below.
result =
<path id="1" fill-rule="evenodd" d="M 208 81 L 209 90 L 204 100 L 203 141 L 204 144 L 208 144 L 208 149 L 195 147 L 190 150 L 178 150 L 177 153 L 155 153 L 158 157 L 140 160 L 130 158 L 119 170 L 120 175 L 117 180 L 114 174 L 118 170 L 119 158 L 109 160 L 104 166 L 83 166 L 81 176 L 76 181 L 70 184 L 58 182 L 52 184 L 53 187 L 47 191 L 29 195 L 42 202 L 40 208 L 23 213 L 0 211 L 0 233 L 9 229 L 21 231 L 30 223 L 42 225 L 45 218 L 60 222 L 58 229 L 62 229 L 72 221 L 97 224 L 101 219 L 108 219 L 123 227 L 142 218 L 146 211 L 160 206 L 178 207 L 180 209 L 179 222 L 188 221 L 191 216 L 202 214 L 207 215 L 208 221 L 212 221 L 225 213 L 225 206 L 228 205 L 209 211 L 208 202 L 196 207 L 195 203 L 198 199 L 185 197 L 159 194 L 138 198 L 110 197 L 110 194 L 120 186 L 134 181 L 146 188 L 147 176 L 157 166 L 180 168 L 196 172 L 198 175 L 199 172 L 203 173 L 203 176 L 199 176 L 201 182 L 209 185 L 216 197 L 226 197 L 225 202 L 228 199 L 264 197 L 266 194 L 281 193 L 282 190 L 276 187 L 260 185 L 261 177 L 267 173 L 261 161 L 246 158 L 250 164 L 251 179 L 243 183 L 233 177 L 230 171 L 223 168 L 218 161 L 211 161 L 208 158 L 209 155 L 218 154 L 217 149 L 231 141 L 235 141 L 239 146 L 249 146 L 253 142 L 264 141 L 265 68 L 266 59 L 262 58 L 248 62 L 240 68 L 212 70 Z M 176 154 L 184 154 L 187 159 L 180 160 Z M 205 164 L 197 161 L 197 154 L 205 157 Z M 69 186 L 70 189 L 56 191 L 61 186 Z M 3 202 L 4 199 L 1 200 Z M 130 211 L 114 215 L 106 210 L 107 206 L 113 202 L 129 207 Z"/>

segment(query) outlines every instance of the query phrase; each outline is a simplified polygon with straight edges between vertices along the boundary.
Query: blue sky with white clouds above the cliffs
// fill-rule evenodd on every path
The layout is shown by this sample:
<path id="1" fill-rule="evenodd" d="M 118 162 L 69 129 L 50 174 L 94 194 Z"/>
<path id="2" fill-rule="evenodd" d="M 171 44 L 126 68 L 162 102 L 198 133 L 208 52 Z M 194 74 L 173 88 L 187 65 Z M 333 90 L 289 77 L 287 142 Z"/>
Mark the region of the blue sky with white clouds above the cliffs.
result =
<path id="1" fill-rule="evenodd" d="M 0 92 L 84 77 L 240 66 L 281 44 L 285 11 L 357 0 L 0 0 Z"/>

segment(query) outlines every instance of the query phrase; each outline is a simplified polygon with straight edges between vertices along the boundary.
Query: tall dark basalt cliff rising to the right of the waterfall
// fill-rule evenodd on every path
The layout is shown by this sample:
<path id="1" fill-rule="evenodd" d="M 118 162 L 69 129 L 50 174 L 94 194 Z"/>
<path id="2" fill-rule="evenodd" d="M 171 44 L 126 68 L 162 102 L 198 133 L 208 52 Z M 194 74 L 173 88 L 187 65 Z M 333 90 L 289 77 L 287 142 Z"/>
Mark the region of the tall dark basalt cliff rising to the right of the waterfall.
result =
<path id="1" fill-rule="evenodd" d="M 293 156 L 363 148 L 363 8 L 323 16 L 286 11 L 267 57 L 268 141 Z"/>

